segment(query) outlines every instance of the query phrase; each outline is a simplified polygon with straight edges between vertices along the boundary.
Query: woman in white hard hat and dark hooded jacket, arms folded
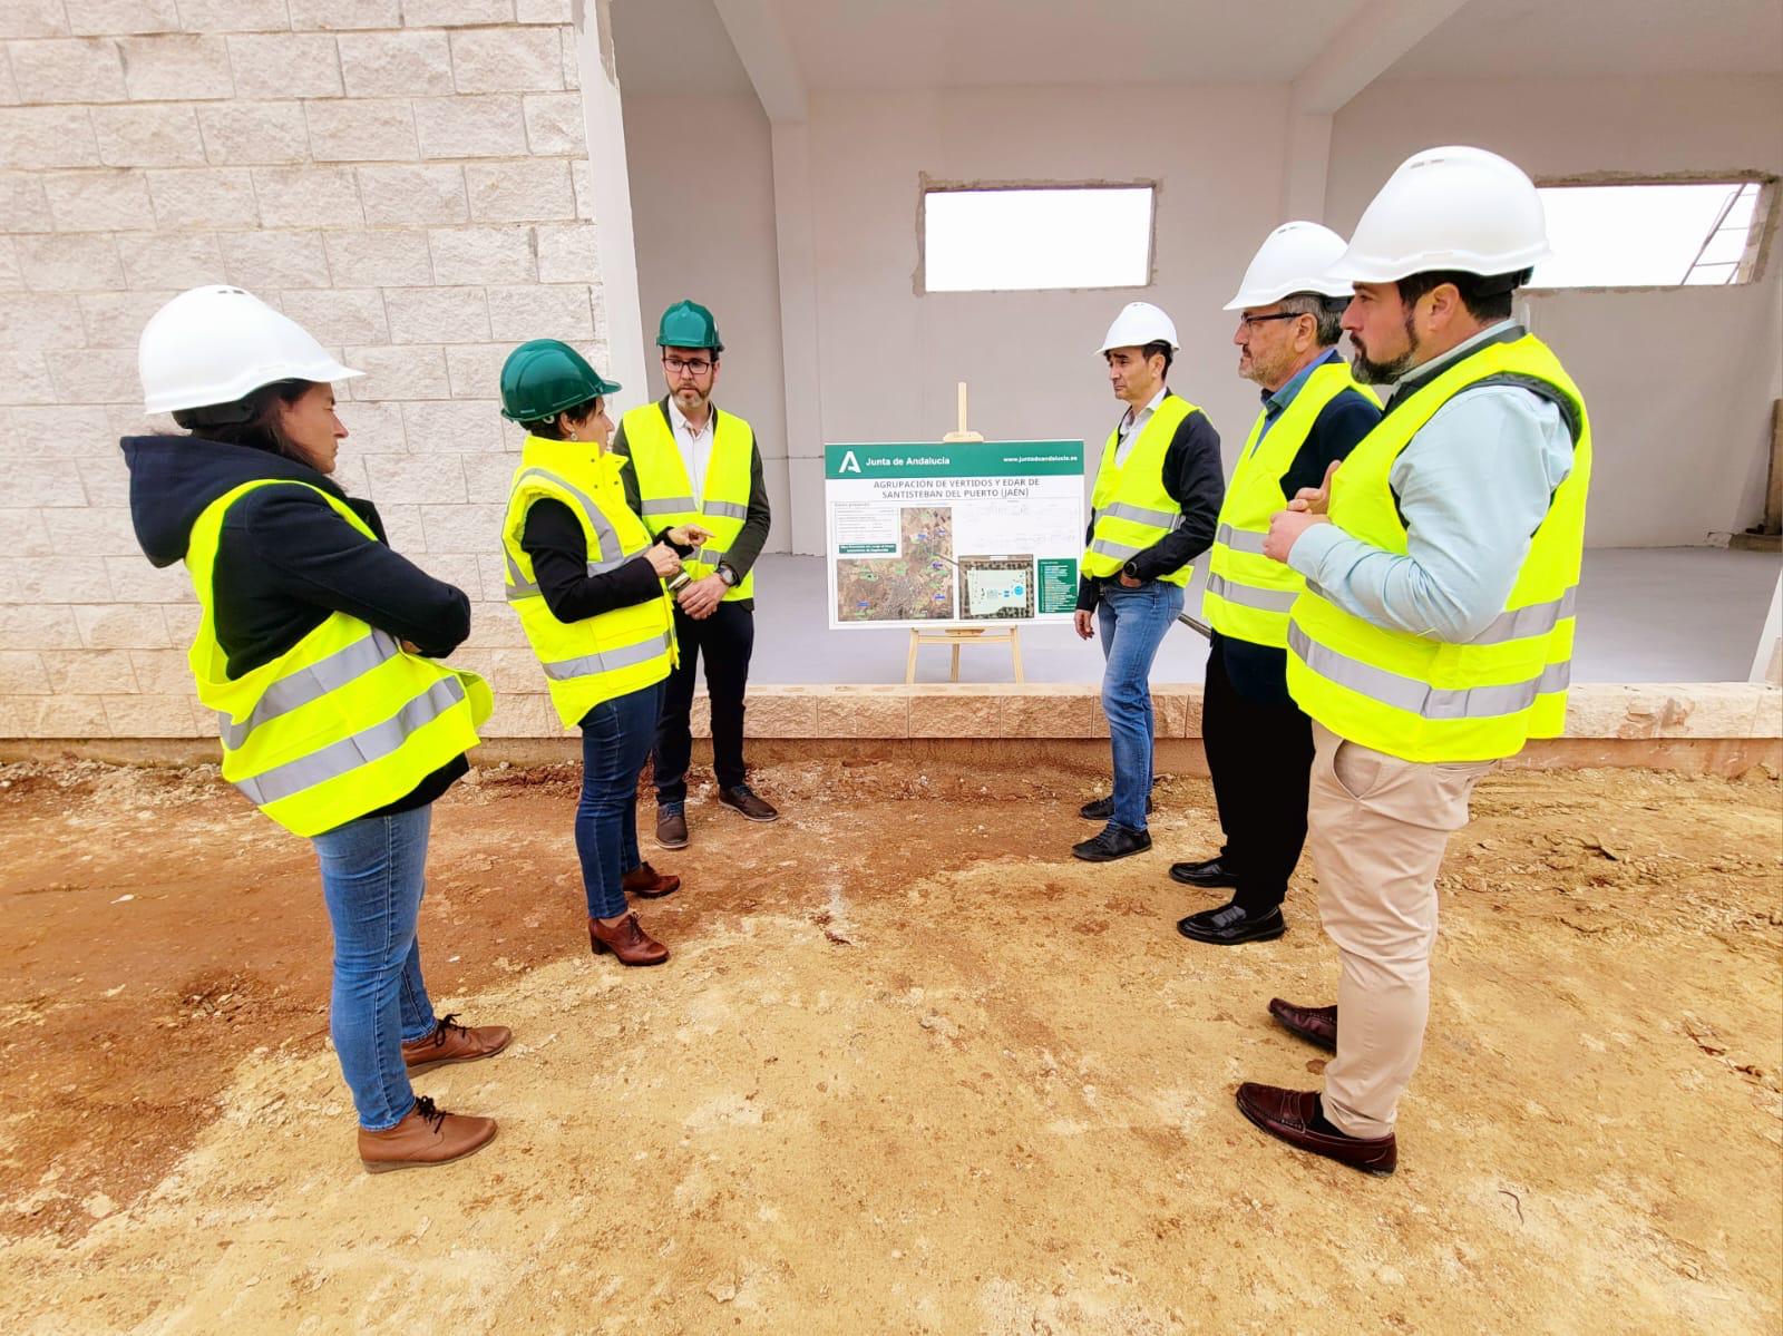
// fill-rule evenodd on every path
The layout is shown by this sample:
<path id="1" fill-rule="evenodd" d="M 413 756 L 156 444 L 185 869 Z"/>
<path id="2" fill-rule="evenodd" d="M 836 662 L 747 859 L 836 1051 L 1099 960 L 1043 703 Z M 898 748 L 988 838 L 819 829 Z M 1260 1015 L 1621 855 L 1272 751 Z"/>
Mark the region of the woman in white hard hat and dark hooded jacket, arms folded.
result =
<path id="1" fill-rule="evenodd" d="M 510 1038 L 435 1017 L 415 944 L 433 799 L 490 708 L 476 674 L 433 662 L 469 633 L 469 599 L 390 551 L 371 503 L 328 478 L 346 435 L 332 383 L 360 373 L 296 323 L 239 287 L 196 287 L 148 321 L 139 369 L 144 407 L 189 435 L 123 441 L 137 540 L 193 578 L 191 667 L 223 778 L 316 847 L 360 1159 L 471 1154 L 494 1120 L 408 1084 Z"/>

